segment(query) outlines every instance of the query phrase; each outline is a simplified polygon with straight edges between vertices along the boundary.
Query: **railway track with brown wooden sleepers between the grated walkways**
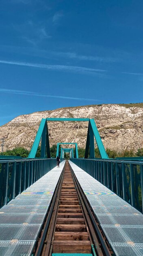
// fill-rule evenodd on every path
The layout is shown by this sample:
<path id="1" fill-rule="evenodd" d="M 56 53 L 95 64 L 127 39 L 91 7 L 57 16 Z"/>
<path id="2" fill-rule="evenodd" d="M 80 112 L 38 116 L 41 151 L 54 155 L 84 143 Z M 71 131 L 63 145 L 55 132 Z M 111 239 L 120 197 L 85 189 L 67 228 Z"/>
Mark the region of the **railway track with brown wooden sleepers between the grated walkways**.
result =
<path id="1" fill-rule="evenodd" d="M 60 253 L 111 256 L 68 161 L 58 182 L 35 256 Z"/>

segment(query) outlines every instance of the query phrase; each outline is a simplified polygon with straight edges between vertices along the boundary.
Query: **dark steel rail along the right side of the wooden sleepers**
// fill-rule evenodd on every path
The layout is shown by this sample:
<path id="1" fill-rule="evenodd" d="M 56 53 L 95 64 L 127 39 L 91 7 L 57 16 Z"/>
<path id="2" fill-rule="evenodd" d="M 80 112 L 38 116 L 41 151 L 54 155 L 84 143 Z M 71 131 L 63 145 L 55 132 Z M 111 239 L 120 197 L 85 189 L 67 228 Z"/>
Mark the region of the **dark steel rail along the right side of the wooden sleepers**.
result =
<path id="1" fill-rule="evenodd" d="M 74 174 L 72 166 L 70 164 L 69 164 L 69 166 L 70 166 L 70 169 L 72 171 L 76 191 L 77 191 L 78 196 L 80 198 L 80 202 L 82 204 L 82 208 L 83 208 L 84 213 L 85 213 L 85 218 L 87 220 L 87 224 L 89 225 L 89 231 L 90 231 L 90 235 L 91 235 L 91 238 L 93 240 L 93 243 L 94 243 L 95 252 L 99 256 L 100 255 L 111 256 L 111 253 L 110 253 L 110 251 L 108 249 L 108 246 L 107 246 L 107 244 L 104 240 L 104 237 L 102 236 L 100 228 L 98 227 L 98 223 L 96 222 L 96 220 L 93 216 L 93 213 L 92 213 L 92 211 L 89 207 L 89 204 L 87 202 L 85 194 L 82 192 L 80 184 L 79 184 L 79 182 L 76 178 L 76 175 Z M 101 250 L 102 250 L 102 254 L 101 254 L 100 247 L 101 247 Z"/>

